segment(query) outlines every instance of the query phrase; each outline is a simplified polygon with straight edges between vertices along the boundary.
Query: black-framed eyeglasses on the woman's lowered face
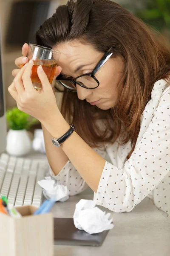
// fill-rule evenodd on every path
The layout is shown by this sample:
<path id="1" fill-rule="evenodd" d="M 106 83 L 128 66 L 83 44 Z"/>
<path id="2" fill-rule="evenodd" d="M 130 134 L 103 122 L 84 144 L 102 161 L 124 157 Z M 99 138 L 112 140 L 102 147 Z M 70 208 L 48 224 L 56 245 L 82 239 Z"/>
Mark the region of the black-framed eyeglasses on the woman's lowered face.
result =
<path id="1" fill-rule="evenodd" d="M 57 76 L 56 81 L 72 92 L 77 92 L 77 84 L 89 90 L 97 88 L 100 83 L 94 75 L 113 54 L 111 52 L 111 49 L 112 48 L 110 48 L 108 52 L 106 52 L 105 55 L 103 55 L 103 57 L 100 59 L 100 61 L 96 64 L 96 66 L 90 73 L 77 76 L 74 79 L 67 79 L 65 78 L 65 76 L 60 74 L 59 76 Z"/>

